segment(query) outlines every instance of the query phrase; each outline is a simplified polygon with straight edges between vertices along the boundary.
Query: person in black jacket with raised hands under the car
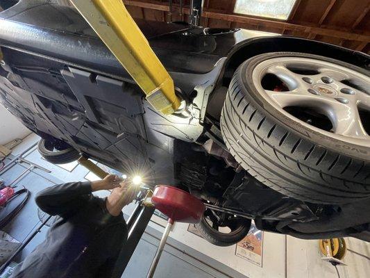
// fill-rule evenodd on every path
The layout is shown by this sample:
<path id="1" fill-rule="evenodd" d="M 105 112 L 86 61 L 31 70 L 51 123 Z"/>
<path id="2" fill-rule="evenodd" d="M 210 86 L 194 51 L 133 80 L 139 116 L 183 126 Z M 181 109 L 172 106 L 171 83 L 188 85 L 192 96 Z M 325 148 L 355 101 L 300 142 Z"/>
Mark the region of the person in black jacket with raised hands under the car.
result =
<path id="1" fill-rule="evenodd" d="M 94 191 L 112 190 L 105 199 Z M 59 215 L 46 239 L 17 265 L 11 277 L 110 277 L 127 239 L 122 208 L 137 192 L 116 175 L 101 181 L 64 183 L 42 190 L 36 203 Z"/>

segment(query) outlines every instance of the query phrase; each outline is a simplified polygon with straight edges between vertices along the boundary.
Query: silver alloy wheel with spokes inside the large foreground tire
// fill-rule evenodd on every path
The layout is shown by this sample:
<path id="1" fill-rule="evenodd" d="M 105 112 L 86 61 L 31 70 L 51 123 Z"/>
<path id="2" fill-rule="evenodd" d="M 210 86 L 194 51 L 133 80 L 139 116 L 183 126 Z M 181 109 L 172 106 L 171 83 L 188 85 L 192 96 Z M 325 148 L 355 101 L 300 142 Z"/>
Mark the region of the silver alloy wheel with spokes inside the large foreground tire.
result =
<path id="1" fill-rule="evenodd" d="M 276 62 L 264 62 L 261 68 L 264 74 L 277 78 L 269 77 L 261 83 L 276 108 L 325 132 L 370 139 L 361 121 L 364 111 L 370 111 L 370 82 L 366 76 L 321 60 L 296 57 L 276 58 Z"/>

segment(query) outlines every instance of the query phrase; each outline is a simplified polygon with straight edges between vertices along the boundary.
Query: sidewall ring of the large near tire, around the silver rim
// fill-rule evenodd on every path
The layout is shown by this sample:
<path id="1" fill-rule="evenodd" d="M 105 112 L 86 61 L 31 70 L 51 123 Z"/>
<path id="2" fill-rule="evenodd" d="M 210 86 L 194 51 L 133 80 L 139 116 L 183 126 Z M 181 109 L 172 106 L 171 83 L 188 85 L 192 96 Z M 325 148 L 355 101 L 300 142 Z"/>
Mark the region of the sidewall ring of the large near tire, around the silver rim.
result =
<path id="1" fill-rule="evenodd" d="M 264 99 L 260 96 L 260 92 L 258 92 L 257 88 L 253 84 L 252 74 L 255 67 L 262 63 L 264 60 L 269 60 L 271 58 L 276 57 L 303 57 L 303 58 L 314 58 L 317 60 L 324 60 L 326 62 L 335 63 L 336 65 L 341 65 L 347 67 L 350 70 L 355 70 L 356 72 L 360 72 L 361 74 L 365 74 L 370 76 L 369 72 L 361 69 L 360 67 L 356 67 L 354 65 L 343 63 L 338 60 L 334 60 L 331 58 L 326 58 L 323 56 L 316 56 L 312 54 L 301 54 L 301 53 L 274 53 L 274 54 L 261 54 L 259 56 L 255 56 L 249 60 L 246 60 L 240 66 L 240 74 L 242 76 L 242 83 L 244 86 L 244 90 L 246 90 L 247 97 L 252 101 L 252 104 L 256 108 L 263 109 L 264 114 L 267 117 L 270 117 L 271 120 L 274 122 L 278 122 L 280 126 L 285 126 L 285 128 L 289 129 L 289 131 L 293 131 L 296 133 L 297 136 L 301 136 L 306 140 L 312 141 L 315 145 L 322 145 L 328 149 L 331 149 L 333 152 L 338 152 L 340 154 L 344 154 L 347 156 L 351 156 L 353 158 L 360 158 L 364 161 L 370 161 L 370 149 L 367 147 L 362 147 L 358 145 L 353 145 L 349 142 L 344 142 L 342 140 L 337 140 L 336 138 L 326 136 L 323 133 L 319 133 L 314 129 L 308 128 L 298 121 L 294 121 L 278 111 L 277 108 L 272 106 L 267 99 Z"/>

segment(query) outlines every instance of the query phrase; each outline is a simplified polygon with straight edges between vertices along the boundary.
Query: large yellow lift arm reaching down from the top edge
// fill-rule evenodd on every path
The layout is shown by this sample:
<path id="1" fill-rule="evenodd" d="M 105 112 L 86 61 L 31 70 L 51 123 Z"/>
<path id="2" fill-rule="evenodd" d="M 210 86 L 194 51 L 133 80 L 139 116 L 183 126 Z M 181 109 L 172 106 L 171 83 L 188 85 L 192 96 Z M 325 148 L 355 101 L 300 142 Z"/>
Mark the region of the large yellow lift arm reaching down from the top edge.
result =
<path id="1" fill-rule="evenodd" d="M 112 51 L 135 82 L 146 100 L 164 114 L 174 113 L 180 106 L 174 81 L 149 46 L 121 0 L 71 0 Z"/>

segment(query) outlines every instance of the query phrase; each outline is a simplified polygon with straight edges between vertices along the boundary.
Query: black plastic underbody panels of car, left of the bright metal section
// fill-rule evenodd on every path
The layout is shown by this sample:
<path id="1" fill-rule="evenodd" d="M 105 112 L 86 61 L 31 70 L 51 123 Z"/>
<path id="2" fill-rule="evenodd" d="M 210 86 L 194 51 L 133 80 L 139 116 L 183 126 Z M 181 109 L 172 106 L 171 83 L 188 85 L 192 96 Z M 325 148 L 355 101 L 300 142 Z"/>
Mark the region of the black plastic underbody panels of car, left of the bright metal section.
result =
<path id="1" fill-rule="evenodd" d="M 0 77 L 4 106 L 40 135 L 65 140 L 118 170 L 150 172 L 155 160 L 147 152 L 142 94 L 135 85 L 46 59 L 26 66 L 26 56 L 22 67 Z"/>

